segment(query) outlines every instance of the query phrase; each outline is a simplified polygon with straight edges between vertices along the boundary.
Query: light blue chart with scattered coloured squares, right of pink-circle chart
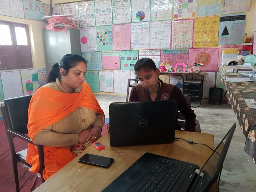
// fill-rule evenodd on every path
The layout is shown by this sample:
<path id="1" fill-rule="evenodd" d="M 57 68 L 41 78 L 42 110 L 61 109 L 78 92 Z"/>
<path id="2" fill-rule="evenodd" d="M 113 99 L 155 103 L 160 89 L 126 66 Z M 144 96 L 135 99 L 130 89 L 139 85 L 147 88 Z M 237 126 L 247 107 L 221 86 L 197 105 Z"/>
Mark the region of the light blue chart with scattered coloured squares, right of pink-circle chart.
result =
<path id="1" fill-rule="evenodd" d="M 98 51 L 113 50 L 112 26 L 96 27 L 96 44 Z"/>

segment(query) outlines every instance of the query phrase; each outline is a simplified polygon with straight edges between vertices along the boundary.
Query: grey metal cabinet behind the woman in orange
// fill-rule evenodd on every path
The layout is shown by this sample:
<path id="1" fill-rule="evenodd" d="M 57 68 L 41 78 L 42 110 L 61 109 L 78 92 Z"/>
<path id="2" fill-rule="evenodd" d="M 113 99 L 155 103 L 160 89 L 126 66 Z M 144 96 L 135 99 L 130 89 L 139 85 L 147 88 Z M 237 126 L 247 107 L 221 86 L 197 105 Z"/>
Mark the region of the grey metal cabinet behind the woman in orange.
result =
<path id="1" fill-rule="evenodd" d="M 43 30 L 44 54 L 46 59 L 46 73 L 52 66 L 58 63 L 65 54 L 81 55 L 80 31 L 75 28 L 67 28 L 65 31 Z"/>

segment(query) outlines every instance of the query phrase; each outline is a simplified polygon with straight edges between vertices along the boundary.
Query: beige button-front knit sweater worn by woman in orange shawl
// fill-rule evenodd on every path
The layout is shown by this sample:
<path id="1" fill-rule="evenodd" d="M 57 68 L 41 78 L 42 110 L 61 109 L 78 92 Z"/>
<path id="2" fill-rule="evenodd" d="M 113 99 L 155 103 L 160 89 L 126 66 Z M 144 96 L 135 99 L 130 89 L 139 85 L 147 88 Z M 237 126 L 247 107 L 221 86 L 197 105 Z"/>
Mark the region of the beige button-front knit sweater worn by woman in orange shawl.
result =
<path id="1" fill-rule="evenodd" d="M 51 82 L 44 86 L 54 90 L 67 92 L 57 78 L 56 82 Z M 76 88 L 75 92 L 80 92 L 81 87 Z M 50 97 L 50 95 L 49 95 Z M 78 144 L 78 133 L 83 129 L 93 126 L 102 127 L 103 115 L 95 113 L 86 107 L 78 107 L 74 112 L 64 117 L 60 121 L 39 131 L 34 137 L 34 143 L 53 147 L 69 148 L 71 145 Z"/>

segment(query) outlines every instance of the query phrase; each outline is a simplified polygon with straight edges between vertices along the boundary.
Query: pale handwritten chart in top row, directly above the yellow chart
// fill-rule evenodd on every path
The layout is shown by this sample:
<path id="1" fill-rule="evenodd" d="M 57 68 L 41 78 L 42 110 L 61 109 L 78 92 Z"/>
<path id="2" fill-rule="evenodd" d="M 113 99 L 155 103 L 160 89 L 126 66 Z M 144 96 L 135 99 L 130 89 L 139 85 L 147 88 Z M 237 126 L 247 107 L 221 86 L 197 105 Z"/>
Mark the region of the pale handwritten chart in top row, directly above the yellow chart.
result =
<path id="1" fill-rule="evenodd" d="M 222 0 L 197 0 L 197 17 L 220 15 L 222 10 Z"/>

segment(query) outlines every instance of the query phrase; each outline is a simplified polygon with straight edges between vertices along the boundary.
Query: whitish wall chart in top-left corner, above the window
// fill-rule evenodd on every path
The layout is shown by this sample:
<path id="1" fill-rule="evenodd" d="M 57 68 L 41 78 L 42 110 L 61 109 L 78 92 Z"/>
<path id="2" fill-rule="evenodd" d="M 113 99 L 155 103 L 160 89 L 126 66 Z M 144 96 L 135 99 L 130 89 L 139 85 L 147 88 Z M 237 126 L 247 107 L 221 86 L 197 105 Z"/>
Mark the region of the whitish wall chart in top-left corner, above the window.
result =
<path id="1" fill-rule="evenodd" d="M 0 15 L 24 19 L 25 16 L 22 0 L 1 0 Z"/>

